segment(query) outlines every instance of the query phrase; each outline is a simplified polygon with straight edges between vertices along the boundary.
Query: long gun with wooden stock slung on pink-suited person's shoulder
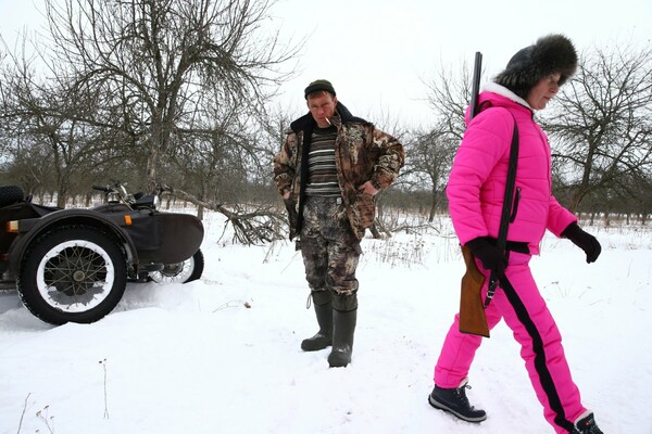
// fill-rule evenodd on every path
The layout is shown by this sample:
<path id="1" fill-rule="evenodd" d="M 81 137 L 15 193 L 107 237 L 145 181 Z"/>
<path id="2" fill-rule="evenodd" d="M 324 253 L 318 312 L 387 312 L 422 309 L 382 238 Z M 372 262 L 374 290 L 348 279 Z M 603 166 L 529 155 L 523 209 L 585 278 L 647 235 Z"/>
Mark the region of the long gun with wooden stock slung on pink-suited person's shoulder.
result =
<path id="1" fill-rule="evenodd" d="M 473 66 L 473 86 L 471 90 L 469 119 L 475 117 L 478 111 L 478 93 L 480 88 L 480 72 L 482 67 L 482 53 L 475 54 Z M 478 270 L 471 248 L 462 246 L 462 256 L 466 265 L 466 272 L 462 277 L 462 291 L 460 294 L 460 331 L 462 333 L 476 334 L 489 337 L 489 327 L 485 315 L 482 303 L 482 285 L 485 276 Z"/>

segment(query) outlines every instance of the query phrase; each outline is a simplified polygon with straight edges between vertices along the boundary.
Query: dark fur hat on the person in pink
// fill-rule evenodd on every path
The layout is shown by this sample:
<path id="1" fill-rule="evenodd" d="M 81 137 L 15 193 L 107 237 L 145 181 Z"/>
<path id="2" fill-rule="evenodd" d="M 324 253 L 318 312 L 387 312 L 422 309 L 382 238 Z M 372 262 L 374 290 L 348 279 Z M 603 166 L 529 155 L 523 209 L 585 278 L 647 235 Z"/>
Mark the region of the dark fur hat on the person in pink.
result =
<path id="1" fill-rule="evenodd" d="M 577 52 L 570 39 L 563 35 L 548 35 L 539 38 L 537 43 L 518 50 L 493 81 L 525 100 L 541 78 L 560 73 L 562 86 L 576 68 Z"/>

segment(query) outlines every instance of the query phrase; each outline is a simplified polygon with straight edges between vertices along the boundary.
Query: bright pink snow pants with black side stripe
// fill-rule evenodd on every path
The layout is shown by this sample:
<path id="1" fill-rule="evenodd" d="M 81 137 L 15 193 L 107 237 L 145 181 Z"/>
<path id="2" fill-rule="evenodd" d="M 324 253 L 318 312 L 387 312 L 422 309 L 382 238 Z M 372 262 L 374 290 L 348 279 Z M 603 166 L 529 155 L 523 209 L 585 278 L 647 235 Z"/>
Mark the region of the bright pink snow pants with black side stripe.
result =
<path id="1" fill-rule="evenodd" d="M 543 416 L 556 433 L 569 433 L 573 432 L 573 422 L 586 409 L 570 378 L 560 331 L 532 278 L 529 259 L 530 255 L 510 253 L 506 277 L 511 288 L 501 285 L 496 289 L 486 309 L 487 322 L 492 329 L 504 318 L 521 344 L 521 357 L 543 406 Z M 486 271 L 479 261 L 478 268 Z M 489 275 L 485 275 L 488 282 Z M 486 295 L 487 283 L 482 288 L 482 297 Z M 480 336 L 461 333 L 459 320 L 457 314 L 435 366 L 435 384 L 439 387 L 460 386 L 468 374 L 476 349 L 482 343 Z"/>

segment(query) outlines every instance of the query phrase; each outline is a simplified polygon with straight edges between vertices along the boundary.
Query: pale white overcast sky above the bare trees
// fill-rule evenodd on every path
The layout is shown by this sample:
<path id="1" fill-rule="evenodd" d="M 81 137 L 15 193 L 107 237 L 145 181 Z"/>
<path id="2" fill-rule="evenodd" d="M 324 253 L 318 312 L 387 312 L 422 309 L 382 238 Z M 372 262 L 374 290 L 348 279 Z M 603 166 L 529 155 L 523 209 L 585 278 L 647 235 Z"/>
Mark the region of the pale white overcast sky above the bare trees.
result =
<path id="1" fill-rule="evenodd" d="M 42 0 L 0 0 L 4 39 L 42 23 L 37 9 Z M 652 48 L 650 0 L 277 0 L 272 15 L 284 37 L 308 38 L 296 77 L 281 89 L 286 110 L 304 112 L 303 89 L 326 78 L 353 114 L 411 125 L 430 116 L 419 101 L 423 80 L 472 65 L 476 51 L 491 77 L 550 33 L 565 34 L 578 51 L 614 42 Z"/>

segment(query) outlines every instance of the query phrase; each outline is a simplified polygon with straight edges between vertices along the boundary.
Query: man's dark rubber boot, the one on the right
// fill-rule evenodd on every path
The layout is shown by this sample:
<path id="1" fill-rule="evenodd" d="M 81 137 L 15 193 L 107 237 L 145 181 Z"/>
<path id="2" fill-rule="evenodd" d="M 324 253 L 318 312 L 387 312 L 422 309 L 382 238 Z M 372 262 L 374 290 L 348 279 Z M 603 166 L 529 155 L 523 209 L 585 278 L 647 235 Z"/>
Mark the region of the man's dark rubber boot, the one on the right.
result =
<path id="1" fill-rule="evenodd" d="M 333 299 L 333 349 L 328 356 L 330 368 L 343 368 L 351 362 L 353 334 L 358 319 L 358 296 L 336 294 Z"/>

